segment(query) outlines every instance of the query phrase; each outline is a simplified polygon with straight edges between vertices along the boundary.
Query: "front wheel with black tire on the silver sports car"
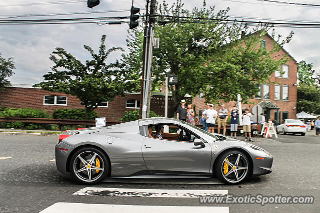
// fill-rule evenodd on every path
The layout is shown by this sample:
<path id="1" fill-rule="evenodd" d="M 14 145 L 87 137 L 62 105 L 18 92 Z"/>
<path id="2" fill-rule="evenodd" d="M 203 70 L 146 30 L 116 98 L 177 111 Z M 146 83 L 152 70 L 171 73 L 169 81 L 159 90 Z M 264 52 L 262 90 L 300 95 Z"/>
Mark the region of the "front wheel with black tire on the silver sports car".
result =
<path id="1" fill-rule="evenodd" d="M 237 156 L 240 155 L 240 159 L 237 165 L 235 165 L 236 162 L 236 158 Z M 232 172 L 232 167 L 230 165 L 225 165 L 225 161 L 224 160 L 228 160 L 228 162 L 235 166 L 235 170 L 233 170 Z M 225 171 L 224 166 L 227 166 L 228 170 Z M 245 168 L 246 169 L 243 169 Z M 242 169 L 239 169 L 242 168 Z M 215 160 L 215 164 L 214 164 L 214 175 L 222 182 L 226 183 L 226 184 L 238 184 L 242 181 L 244 181 L 248 176 L 249 176 L 249 171 L 250 171 L 250 162 L 248 157 L 246 156 L 246 154 L 244 154 L 241 151 L 238 150 L 230 150 L 222 155 L 220 155 L 216 160 Z M 238 180 L 236 178 L 235 175 L 235 171 L 236 174 L 238 176 Z M 229 173 L 230 172 L 230 173 Z M 229 175 L 227 175 L 229 173 Z M 225 175 L 227 175 L 228 177 L 226 177 Z"/>

